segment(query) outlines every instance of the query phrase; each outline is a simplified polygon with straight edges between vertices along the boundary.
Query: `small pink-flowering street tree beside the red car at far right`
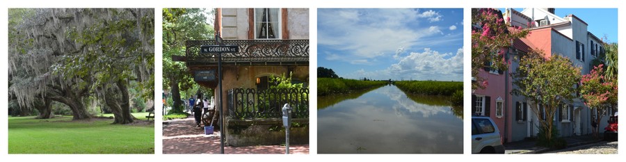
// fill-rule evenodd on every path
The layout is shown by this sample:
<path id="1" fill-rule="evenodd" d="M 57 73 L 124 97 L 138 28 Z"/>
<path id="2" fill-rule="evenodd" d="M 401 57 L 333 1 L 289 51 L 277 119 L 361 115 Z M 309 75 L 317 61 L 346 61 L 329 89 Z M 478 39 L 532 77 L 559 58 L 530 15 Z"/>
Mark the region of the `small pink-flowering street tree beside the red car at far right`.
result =
<path id="1" fill-rule="evenodd" d="M 584 103 L 589 108 L 595 109 L 597 117 L 596 123 L 600 123 L 600 116 L 607 115 L 607 109 L 617 104 L 618 86 L 617 79 L 605 77 L 604 65 L 593 67 L 591 73 L 582 76 L 580 81 L 580 95 Z M 597 137 L 600 127 L 595 128 L 594 136 Z"/>

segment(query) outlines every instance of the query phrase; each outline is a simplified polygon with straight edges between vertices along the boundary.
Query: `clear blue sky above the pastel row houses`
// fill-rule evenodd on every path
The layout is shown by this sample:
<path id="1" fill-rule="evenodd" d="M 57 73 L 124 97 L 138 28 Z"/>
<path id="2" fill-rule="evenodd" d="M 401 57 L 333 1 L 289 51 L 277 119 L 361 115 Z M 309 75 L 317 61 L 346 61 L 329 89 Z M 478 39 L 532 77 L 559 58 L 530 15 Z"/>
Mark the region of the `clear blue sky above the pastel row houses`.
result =
<path id="1" fill-rule="evenodd" d="M 505 8 L 500 8 L 504 12 Z M 522 11 L 524 8 L 513 8 Z M 618 42 L 618 13 L 617 8 L 556 8 L 554 15 L 565 17 L 567 15 L 576 15 L 589 24 L 587 31 L 593 33 L 597 38 L 604 39 L 607 35 L 609 41 Z"/>

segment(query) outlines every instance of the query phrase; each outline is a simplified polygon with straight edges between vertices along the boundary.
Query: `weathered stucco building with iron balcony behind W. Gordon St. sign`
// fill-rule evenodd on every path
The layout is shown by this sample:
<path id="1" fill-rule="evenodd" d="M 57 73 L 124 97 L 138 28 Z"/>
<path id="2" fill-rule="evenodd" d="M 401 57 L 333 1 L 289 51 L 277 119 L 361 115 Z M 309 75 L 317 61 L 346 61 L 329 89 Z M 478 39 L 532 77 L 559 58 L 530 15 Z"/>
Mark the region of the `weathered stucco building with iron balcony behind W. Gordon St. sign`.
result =
<path id="1" fill-rule="evenodd" d="M 195 81 L 215 90 L 224 115 L 228 145 L 274 145 L 280 131 L 282 105 L 291 104 L 292 118 L 308 125 L 309 10 L 307 8 L 216 8 L 214 29 L 223 40 L 186 42 L 186 65 Z M 236 46 L 239 51 L 203 53 L 202 46 Z M 198 77 L 202 76 L 202 77 Z M 272 76 L 291 76 L 303 89 L 271 91 Z M 222 91 L 218 81 L 222 81 Z M 220 95 L 221 94 L 221 95 Z M 263 131 L 264 130 L 264 131 Z M 295 131 L 295 132 L 294 132 Z M 308 143 L 308 127 L 292 132 L 294 143 Z M 284 136 L 284 133 L 282 134 Z"/>

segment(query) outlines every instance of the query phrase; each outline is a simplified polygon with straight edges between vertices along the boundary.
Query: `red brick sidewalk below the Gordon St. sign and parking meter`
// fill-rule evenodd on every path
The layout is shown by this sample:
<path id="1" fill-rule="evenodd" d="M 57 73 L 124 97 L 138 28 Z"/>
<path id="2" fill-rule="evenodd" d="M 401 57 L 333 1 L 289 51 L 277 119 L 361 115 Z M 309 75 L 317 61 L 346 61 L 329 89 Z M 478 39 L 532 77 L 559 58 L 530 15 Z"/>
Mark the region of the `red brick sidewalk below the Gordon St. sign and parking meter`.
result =
<path id="1" fill-rule="evenodd" d="M 193 118 L 168 120 L 163 124 L 163 154 L 220 154 L 220 132 L 204 135 Z M 226 154 L 284 154 L 284 146 L 224 147 Z M 309 145 L 289 145 L 290 154 L 309 154 Z"/>

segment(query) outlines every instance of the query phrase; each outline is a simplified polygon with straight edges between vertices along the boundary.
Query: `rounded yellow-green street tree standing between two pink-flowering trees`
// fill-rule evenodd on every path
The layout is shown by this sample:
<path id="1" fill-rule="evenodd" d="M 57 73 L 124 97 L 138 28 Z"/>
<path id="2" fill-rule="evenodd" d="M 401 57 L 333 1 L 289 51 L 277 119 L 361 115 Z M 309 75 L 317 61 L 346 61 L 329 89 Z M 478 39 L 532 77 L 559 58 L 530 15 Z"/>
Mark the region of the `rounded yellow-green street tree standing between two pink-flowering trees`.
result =
<path id="1" fill-rule="evenodd" d="M 541 131 L 545 132 L 542 138 L 547 141 L 554 139 L 552 119 L 559 104 L 571 103 L 575 97 L 580 70 L 581 67 L 573 66 L 564 56 L 554 54 L 545 58 L 543 51 L 535 49 L 521 58 L 520 67 L 512 74 L 513 83 L 517 86 L 513 93 L 534 103 L 530 104 L 530 108 L 538 117 Z"/>

